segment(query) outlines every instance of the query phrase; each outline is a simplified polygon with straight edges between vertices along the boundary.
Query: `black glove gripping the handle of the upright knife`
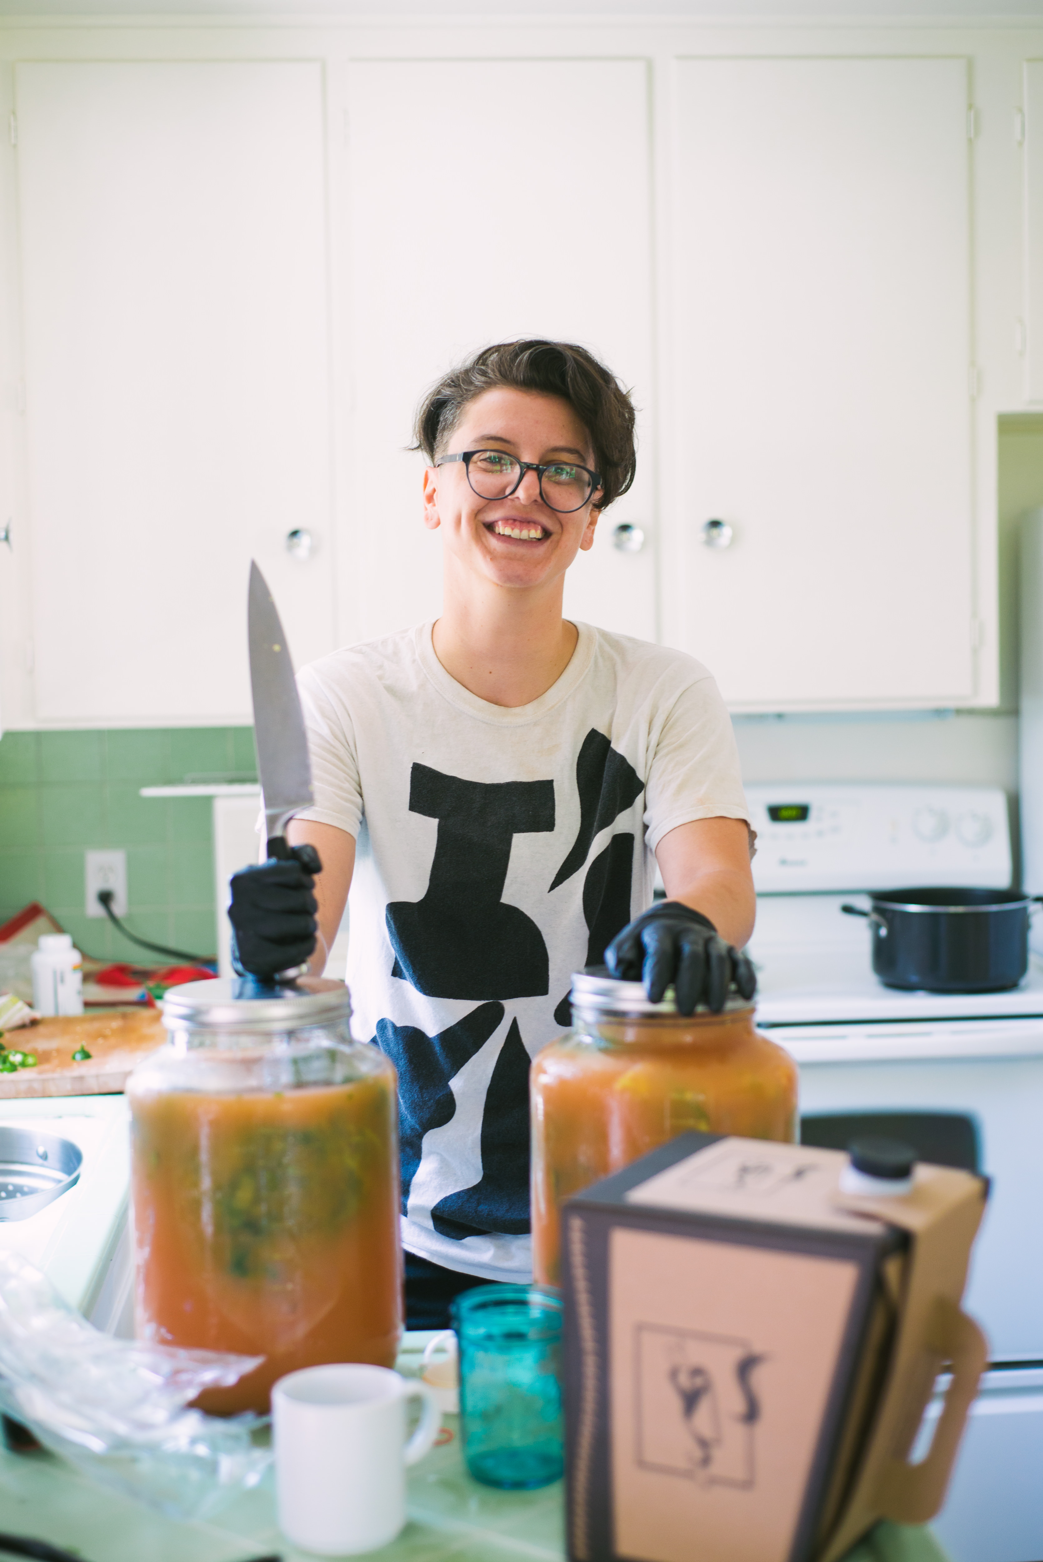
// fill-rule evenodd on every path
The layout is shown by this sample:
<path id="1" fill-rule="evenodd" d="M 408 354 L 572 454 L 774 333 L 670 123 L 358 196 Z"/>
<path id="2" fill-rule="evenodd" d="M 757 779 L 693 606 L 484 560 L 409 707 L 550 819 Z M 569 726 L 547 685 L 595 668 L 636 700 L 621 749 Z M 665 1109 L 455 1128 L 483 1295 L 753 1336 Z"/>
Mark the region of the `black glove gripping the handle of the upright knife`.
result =
<path id="1" fill-rule="evenodd" d="M 272 981 L 311 959 L 319 923 L 314 847 L 290 847 L 287 858 L 269 858 L 231 876 L 231 962 L 240 976 Z"/>

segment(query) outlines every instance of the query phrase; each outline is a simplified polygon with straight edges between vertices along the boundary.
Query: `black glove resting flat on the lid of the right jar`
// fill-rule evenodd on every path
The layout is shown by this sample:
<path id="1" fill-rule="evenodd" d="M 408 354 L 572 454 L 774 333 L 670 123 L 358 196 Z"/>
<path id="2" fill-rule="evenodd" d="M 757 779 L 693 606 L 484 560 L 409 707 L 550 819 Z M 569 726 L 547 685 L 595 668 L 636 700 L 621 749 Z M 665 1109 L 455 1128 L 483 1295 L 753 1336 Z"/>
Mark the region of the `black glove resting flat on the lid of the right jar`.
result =
<path id="1" fill-rule="evenodd" d="M 609 943 L 604 964 L 623 981 L 643 981 L 651 1003 L 660 1003 L 673 982 L 678 1014 L 695 1014 L 699 1003 L 720 1014 L 732 984 L 743 998 L 757 990 L 746 956 L 718 937 L 709 917 L 679 900 L 660 900 L 634 917 Z"/>

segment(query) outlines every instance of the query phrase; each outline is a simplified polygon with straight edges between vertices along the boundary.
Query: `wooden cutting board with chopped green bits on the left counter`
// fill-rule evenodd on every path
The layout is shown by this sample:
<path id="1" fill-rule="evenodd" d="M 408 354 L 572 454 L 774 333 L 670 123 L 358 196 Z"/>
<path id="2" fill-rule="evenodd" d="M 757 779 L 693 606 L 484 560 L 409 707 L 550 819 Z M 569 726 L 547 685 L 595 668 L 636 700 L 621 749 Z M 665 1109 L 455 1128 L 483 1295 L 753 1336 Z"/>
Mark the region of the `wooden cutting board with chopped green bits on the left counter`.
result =
<path id="1" fill-rule="evenodd" d="M 159 1011 L 144 1006 L 23 1025 L 8 1031 L 3 1045 L 9 1051 L 33 1053 L 36 1068 L 0 1073 L 0 1103 L 12 1097 L 119 1092 L 131 1068 L 166 1039 Z M 73 1064 L 72 1054 L 80 1047 L 86 1047 L 91 1057 Z"/>

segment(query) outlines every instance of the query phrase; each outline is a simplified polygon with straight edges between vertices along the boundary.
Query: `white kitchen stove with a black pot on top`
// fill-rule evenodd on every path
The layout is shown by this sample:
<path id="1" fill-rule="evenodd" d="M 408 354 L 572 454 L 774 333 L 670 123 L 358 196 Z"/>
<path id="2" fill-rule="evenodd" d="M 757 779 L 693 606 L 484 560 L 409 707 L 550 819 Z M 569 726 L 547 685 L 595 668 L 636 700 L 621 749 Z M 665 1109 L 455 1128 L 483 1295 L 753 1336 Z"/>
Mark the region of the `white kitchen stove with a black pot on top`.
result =
<path id="1" fill-rule="evenodd" d="M 965 1306 L 991 1370 L 934 1521 L 952 1562 L 1043 1557 L 1043 961 L 999 993 L 884 987 L 868 890 L 1007 889 L 1007 801 L 973 787 L 749 786 L 757 1026 L 796 1059 L 801 1115 L 954 1114 L 991 1178 Z M 1043 908 L 1040 909 L 1043 917 Z M 810 1131 L 810 1125 L 809 1125 Z"/>

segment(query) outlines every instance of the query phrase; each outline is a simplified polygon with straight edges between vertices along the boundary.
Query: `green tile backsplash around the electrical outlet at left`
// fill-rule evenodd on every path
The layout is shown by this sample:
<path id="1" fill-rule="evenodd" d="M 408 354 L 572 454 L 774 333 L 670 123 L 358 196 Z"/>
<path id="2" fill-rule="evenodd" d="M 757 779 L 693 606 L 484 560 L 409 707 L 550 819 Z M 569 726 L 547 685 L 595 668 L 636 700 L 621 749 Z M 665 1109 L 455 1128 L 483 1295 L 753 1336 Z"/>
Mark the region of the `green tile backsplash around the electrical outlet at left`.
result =
<path id="1" fill-rule="evenodd" d="M 211 800 L 141 797 L 141 787 L 255 776 L 248 726 L 5 733 L 0 922 L 39 900 L 84 954 L 148 961 L 111 923 L 86 915 L 84 851 L 122 847 L 126 926 L 155 943 L 212 954 Z"/>

